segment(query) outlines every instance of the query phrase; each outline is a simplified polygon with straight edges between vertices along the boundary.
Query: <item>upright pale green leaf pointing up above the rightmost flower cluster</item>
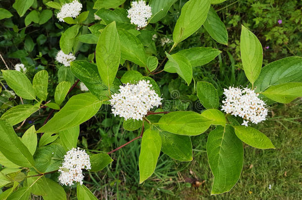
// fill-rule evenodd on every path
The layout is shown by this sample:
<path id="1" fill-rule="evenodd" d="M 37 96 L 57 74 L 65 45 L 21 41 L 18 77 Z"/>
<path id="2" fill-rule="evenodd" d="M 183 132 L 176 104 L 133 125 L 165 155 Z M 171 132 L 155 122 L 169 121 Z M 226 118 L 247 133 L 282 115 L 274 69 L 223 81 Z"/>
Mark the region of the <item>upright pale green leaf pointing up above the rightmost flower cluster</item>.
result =
<path id="1" fill-rule="evenodd" d="M 241 29 L 240 51 L 245 74 L 254 83 L 261 71 L 263 50 L 257 37 L 244 26 Z"/>

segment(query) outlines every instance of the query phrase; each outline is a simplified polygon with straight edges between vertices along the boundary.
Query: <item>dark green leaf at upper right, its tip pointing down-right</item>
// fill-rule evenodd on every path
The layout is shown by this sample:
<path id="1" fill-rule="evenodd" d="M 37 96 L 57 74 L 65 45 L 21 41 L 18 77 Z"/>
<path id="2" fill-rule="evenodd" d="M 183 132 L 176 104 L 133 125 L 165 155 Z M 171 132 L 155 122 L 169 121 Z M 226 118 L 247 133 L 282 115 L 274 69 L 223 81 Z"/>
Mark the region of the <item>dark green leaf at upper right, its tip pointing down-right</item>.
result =
<path id="1" fill-rule="evenodd" d="M 203 27 L 212 39 L 228 45 L 228 32 L 213 7 L 210 7 Z"/>

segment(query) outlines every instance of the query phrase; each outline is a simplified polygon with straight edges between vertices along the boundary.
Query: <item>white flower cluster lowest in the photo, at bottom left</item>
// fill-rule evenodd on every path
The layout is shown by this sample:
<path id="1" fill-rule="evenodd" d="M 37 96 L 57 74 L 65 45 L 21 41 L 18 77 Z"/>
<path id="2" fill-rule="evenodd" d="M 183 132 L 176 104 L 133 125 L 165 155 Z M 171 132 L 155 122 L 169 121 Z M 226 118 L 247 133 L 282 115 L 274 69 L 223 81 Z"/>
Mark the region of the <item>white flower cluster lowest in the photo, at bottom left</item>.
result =
<path id="1" fill-rule="evenodd" d="M 72 148 L 64 156 L 64 162 L 58 170 L 61 173 L 58 178 L 60 184 L 72 186 L 73 182 L 80 182 L 82 185 L 84 178 L 82 169 L 91 169 L 89 155 L 85 150 Z"/>

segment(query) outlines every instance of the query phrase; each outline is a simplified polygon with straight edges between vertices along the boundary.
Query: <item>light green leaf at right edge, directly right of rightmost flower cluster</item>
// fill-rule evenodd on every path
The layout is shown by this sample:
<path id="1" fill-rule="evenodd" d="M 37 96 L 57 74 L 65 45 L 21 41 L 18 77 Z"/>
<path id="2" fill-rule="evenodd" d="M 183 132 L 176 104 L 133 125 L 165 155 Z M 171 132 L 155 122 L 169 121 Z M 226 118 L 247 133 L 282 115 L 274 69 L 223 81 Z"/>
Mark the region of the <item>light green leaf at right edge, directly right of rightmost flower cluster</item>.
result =
<path id="1" fill-rule="evenodd" d="M 271 85 L 261 93 L 273 101 L 287 104 L 297 97 L 302 97 L 302 82 L 287 82 L 279 85 Z"/>

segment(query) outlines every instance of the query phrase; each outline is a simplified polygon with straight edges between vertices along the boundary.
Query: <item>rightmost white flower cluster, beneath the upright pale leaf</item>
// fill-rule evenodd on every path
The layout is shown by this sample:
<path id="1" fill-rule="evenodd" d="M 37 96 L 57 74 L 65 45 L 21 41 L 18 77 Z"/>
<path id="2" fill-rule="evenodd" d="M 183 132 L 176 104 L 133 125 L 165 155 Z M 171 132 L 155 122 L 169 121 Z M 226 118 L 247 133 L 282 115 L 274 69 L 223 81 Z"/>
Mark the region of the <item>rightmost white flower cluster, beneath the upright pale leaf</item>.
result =
<path id="1" fill-rule="evenodd" d="M 222 101 L 222 111 L 227 114 L 243 118 L 241 125 L 248 126 L 248 122 L 258 123 L 266 120 L 267 109 L 265 103 L 258 98 L 254 90 L 250 88 L 229 87 L 224 89 L 226 99 Z"/>

